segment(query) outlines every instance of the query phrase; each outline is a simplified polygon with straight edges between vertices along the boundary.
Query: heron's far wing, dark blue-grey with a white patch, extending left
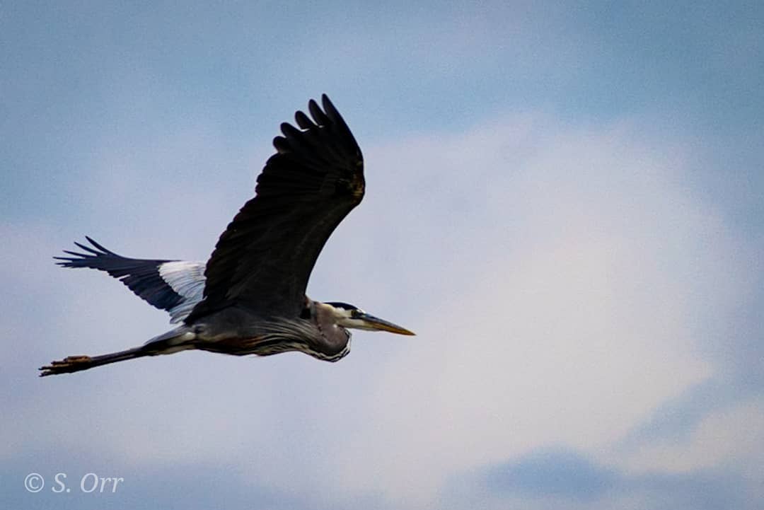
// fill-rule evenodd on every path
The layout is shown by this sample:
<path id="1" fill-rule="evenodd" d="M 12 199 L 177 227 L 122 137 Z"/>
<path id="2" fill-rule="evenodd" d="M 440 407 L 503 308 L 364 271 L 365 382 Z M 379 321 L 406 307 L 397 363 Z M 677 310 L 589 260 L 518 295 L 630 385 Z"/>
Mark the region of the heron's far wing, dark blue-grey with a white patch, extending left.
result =
<path id="1" fill-rule="evenodd" d="M 89 267 L 105 271 L 124 283 L 150 305 L 170 313 L 170 322 L 180 322 L 202 300 L 204 267 L 202 262 L 147 260 L 122 257 L 107 250 L 90 237 L 92 247 L 75 243 L 86 253 L 64 250 L 72 257 L 53 257 L 63 267 Z"/>

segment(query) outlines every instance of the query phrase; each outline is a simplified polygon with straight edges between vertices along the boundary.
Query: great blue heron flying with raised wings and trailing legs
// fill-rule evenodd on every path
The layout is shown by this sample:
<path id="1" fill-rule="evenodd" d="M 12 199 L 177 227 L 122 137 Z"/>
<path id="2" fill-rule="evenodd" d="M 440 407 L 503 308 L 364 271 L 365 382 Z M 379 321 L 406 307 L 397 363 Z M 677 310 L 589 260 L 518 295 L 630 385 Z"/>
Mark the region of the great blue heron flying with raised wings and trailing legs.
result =
<path id="1" fill-rule="evenodd" d="M 90 237 L 92 247 L 75 243 L 83 253 L 54 257 L 64 267 L 105 271 L 181 324 L 141 347 L 53 361 L 40 376 L 190 349 L 236 356 L 297 350 L 337 361 L 350 351 L 345 328 L 413 334 L 353 305 L 305 295 L 326 240 L 364 196 L 361 150 L 326 95 L 322 105 L 308 103 L 312 120 L 296 112 L 299 129 L 281 124 L 254 198 L 206 264 L 121 257 Z"/>

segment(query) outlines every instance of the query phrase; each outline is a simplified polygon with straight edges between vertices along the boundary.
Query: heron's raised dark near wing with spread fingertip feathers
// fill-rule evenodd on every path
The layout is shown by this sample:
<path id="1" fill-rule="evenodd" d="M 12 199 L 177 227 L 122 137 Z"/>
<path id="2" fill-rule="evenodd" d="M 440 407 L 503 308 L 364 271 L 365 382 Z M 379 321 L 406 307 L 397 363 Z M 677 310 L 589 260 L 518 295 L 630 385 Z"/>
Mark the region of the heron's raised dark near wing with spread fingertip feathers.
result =
<path id="1" fill-rule="evenodd" d="M 228 224 L 212 253 L 204 299 L 186 322 L 237 305 L 257 315 L 299 314 L 322 247 L 364 196 L 361 150 L 326 95 L 312 120 L 281 124 L 277 153 L 257 177 L 255 197 Z"/>

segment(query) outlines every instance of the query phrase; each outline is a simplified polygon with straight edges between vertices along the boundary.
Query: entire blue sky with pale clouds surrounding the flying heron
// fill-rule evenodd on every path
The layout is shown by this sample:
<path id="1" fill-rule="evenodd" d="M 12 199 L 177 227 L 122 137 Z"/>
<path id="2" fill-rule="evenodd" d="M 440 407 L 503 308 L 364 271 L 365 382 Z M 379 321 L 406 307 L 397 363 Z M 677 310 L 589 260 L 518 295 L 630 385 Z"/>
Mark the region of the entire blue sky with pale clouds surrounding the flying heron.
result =
<path id="1" fill-rule="evenodd" d="M 757 2 L 4 2 L 0 505 L 761 508 L 762 26 Z M 417 336 L 37 378 L 170 329 L 51 257 L 206 260 L 323 92 L 367 192 L 309 295 Z"/>

